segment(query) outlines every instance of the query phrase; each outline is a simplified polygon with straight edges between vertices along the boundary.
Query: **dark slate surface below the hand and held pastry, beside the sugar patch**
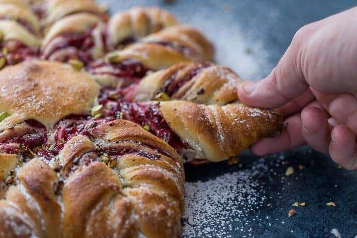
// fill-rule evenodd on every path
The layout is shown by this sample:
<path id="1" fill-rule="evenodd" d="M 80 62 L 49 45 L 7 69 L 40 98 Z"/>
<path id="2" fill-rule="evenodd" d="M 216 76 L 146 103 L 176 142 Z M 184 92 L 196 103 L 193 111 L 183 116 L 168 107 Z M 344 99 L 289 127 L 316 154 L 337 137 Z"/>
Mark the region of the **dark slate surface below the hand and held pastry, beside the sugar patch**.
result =
<path id="1" fill-rule="evenodd" d="M 200 167 L 185 165 L 187 181 L 205 181 L 223 173 L 244 170 L 258 159 L 250 154 L 239 158 L 243 164 L 241 168 L 239 164 L 230 166 L 226 162 Z M 247 219 L 250 219 L 249 229 L 252 231 L 234 231 L 230 233 L 233 237 L 243 237 L 248 233 L 254 237 L 335 237 L 330 232 L 333 228 L 340 232 L 341 237 L 357 235 L 357 172 L 339 169 L 328 156 L 309 147 L 266 156 L 264 164 L 268 169 L 254 179 L 264 184 L 264 196 L 271 197 L 267 201 L 271 206 L 262 206 L 255 213 L 251 212 Z M 299 165 L 305 169 L 300 171 Z M 284 176 L 289 166 L 295 172 Z M 295 201 L 304 201 L 306 205 L 291 206 Z M 326 206 L 329 201 L 334 201 L 336 207 Z M 297 214 L 289 218 L 287 214 L 292 208 Z M 257 216 L 262 221 L 252 221 Z M 244 223 L 234 225 L 245 226 Z"/>

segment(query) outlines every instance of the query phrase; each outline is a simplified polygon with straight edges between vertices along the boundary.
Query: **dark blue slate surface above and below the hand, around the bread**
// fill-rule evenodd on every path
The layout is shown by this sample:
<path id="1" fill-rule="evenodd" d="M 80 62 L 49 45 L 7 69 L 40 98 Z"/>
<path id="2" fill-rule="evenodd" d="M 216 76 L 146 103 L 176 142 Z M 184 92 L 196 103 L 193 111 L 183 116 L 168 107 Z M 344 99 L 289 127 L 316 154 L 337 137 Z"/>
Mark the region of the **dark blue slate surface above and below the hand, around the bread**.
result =
<path id="1" fill-rule="evenodd" d="M 184 22 L 195 24 L 205 29 L 206 34 L 215 41 L 215 36 L 220 34 L 220 29 L 237 25 L 237 31 L 244 36 L 248 47 L 250 42 L 257 39 L 262 42 L 262 48 L 267 52 L 267 57 L 259 64 L 255 79 L 268 74 L 279 58 L 284 54 L 294 33 L 304 24 L 321 19 L 330 14 L 340 12 L 357 4 L 355 0 L 239 0 L 239 1 L 175 1 L 166 4 L 163 1 L 107 1 L 112 12 L 129 8 L 133 5 L 159 5 L 180 16 Z M 227 10 L 228 9 L 228 10 Z M 209 14 L 207 14 L 209 13 Z M 209 15 L 215 17 L 208 17 Z M 201 20 L 197 21 L 202 15 Z M 206 24 L 214 24 L 212 19 L 223 19 L 225 24 L 208 28 Z M 198 18 L 197 18 L 198 17 Z M 357 17 L 357 16 L 356 16 Z M 206 23 L 205 23 L 206 19 Z M 208 30 L 206 30 L 208 29 Z M 211 30 L 210 30 L 211 29 Z M 235 30 L 235 28 L 233 28 Z M 232 35 L 235 32 L 232 32 Z M 232 38 L 233 39 L 233 38 Z M 222 47 L 234 50 L 234 40 L 230 37 Z M 215 42 L 219 44 L 220 42 Z M 218 50 L 224 50 L 218 48 Z M 252 50 L 253 58 L 259 61 L 258 52 Z M 254 55 L 257 54 L 257 55 Z M 219 63 L 219 61 L 218 61 Z M 235 69 L 238 71 L 238 69 Z M 242 70 L 240 70 L 242 71 Z M 238 72 L 244 73 L 244 72 Z M 268 156 L 264 164 L 269 168 L 260 173 L 259 181 L 264 183 L 264 192 L 267 197 L 272 197 L 271 206 L 261 207 L 256 214 L 251 214 L 248 219 L 257 215 L 269 220 L 278 220 L 268 225 L 268 220 L 250 221 L 253 236 L 255 237 L 334 237 L 330 233 L 332 228 L 337 228 L 342 237 L 357 235 L 357 172 L 338 169 L 326 155 L 302 148 L 284 153 L 284 165 L 278 155 Z M 242 168 L 238 165 L 228 166 L 226 162 L 208 164 L 200 167 L 186 165 L 187 180 L 205 181 L 215 178 L 223 173 L 244 170 L 256 163 L 257 157 L 248 153 L 240 156 Z M 306 169 L 299 171 L 298 165 L 305 165 Z M 295 173 L 282 176 L 288 166 L 295 168 Z M 298 212 L 288 218 L 287 212 L 293 208 L 295 201 L 305 201 L 305 207 L 295 208 Z M 336 207 L 327 207 L 326 202 L 334 201 Z M 224 204 L 222 204 L 224 205 Z M 207 215 L 209 216 L 209 214 Z M 284 225 L 282 225 L 284 222 Z M 244 224 L 234 224 L 241 227 Z M 196 224 L 195 229 L 203 229 Z M 246 230 L 246 229 L 244 229 Z M 292 233 L 291 230 L 294 232 Z M 242 237 L 247 233 L 235 231 L 233 237 Z"/>

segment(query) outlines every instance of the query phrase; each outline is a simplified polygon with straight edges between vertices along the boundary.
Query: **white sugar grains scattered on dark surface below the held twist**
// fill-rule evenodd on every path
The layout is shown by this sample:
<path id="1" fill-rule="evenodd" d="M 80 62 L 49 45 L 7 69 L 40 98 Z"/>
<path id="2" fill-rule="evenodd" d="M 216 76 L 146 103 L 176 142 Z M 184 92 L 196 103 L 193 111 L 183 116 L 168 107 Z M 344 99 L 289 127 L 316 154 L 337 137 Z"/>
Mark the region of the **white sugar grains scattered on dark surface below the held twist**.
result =
<path id="1" fill-rule="evenodd" d="M 253 236 L 248 217 L 269 205 L 264 184 L 257 179 L 266 170 L 259 163 L 205 182 L 186 182 L 183 236 L 231 237 L 237 232 Z M 244 224 L 244 229 L 237 224 Z"/>

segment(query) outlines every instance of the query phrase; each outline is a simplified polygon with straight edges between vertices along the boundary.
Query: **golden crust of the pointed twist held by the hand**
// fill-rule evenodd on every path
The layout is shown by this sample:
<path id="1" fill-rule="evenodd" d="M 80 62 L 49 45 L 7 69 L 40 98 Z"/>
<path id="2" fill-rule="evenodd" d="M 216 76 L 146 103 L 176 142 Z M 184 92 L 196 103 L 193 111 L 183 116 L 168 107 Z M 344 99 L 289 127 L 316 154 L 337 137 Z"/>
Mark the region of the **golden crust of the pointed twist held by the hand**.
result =
<path id="1" fill-rule="evenodd" d="M 171 129 L 195 150 L 193 155 L 184 154 L 188 160 L 226 160 L 258 139 L 274 136 L 283 129 L 282 115 L 243 104 L 219 107 L 167 101 L 160 103 L 160 112 Z"/>

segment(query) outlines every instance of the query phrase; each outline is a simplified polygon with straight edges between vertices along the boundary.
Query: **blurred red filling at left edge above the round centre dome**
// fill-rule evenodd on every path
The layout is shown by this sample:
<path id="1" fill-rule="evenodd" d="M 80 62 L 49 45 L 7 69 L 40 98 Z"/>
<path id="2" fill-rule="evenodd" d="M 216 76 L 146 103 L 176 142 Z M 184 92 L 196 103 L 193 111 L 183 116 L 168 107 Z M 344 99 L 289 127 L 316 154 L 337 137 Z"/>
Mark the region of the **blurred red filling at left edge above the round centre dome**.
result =
<path id="1" fill-rule="evenodd" d="M 31 49 L 18 40 L 0 43 L 0 58 L 6 58 L 6 65 L 14 65 L 25 60 L 38 58 L 39 49 Z M 6 52 L 7 51 L 7 52 Z"/>

